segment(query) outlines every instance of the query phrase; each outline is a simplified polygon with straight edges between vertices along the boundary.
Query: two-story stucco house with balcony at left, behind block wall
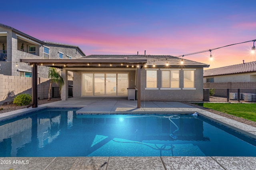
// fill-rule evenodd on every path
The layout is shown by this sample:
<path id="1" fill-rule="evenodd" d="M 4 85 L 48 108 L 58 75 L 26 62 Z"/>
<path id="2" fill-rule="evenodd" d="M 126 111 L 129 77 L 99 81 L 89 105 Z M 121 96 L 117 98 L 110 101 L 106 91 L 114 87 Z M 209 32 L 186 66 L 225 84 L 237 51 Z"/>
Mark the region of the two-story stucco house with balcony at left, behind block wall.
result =
<path id="1" fill-rule="evenodd" d="M 0 74 L 31 77 L 31 66 L 20 59 L 76 59 L 84 57 L 74 45 L 40 41 L 0 23 Z M 38 77 L 47 78 L 48 68 L 38 67 Z"/>

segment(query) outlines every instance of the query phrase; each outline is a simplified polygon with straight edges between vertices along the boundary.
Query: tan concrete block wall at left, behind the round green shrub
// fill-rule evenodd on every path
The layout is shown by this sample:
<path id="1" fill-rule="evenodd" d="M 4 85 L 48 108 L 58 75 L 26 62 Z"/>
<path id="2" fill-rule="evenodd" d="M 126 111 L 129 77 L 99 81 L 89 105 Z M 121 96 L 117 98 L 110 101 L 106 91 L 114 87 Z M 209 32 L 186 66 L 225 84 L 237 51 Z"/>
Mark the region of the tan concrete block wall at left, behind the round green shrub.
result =
<path id="1" fill-rule="evenodd" d="M 48 98 L 49 86 L 50 79 L 38 78 L 38 98 Z M 58 84 L 52 84 L 52 87 L 58 87 Z M 12 102 L 15 96 L 24 93 L 32 93 L 31 77 L 6 76 L 0 74 L 0 104 Z"/>

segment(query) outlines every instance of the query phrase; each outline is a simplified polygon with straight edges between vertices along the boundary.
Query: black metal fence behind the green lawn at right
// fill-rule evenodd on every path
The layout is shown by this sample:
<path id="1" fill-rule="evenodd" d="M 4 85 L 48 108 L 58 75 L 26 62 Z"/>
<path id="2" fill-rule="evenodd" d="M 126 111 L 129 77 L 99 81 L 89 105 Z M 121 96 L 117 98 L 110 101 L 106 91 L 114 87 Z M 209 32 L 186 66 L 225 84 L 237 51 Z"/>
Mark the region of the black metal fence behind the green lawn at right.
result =
<path id="1" fill-rule="evenodd" d="M 204 89 L 205 102 L 256 102 L 256 89 Z"/>

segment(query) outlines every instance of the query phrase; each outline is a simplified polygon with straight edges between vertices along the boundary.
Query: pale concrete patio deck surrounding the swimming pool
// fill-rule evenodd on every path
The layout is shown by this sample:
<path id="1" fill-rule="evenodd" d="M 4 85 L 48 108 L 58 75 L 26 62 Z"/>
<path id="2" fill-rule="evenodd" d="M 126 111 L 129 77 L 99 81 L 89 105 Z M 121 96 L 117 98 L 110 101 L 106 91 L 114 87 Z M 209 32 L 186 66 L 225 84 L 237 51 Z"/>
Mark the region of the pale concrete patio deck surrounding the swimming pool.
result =
<path id="1" fill-rule="evenodd" d="M 0 120 L 24 114 L 46 107 L 82 107 L 78 114 L 108 113 L 194 113 L 197 111 L 208 119 L 226 125 L 236 131 L 256 139 L 256 127 L 240 123 L 203 109 L 198 109 L 180 102 L 141 102 L 137 108 L 136 101 L 127 98 L 70 98 L 65 101 L 39 105 L 38 108 L 26 108 L 0 114 Z M 9 170 L 252 170 L 256 169 L 256 157 L 220 157 L 220 156 L 158 156 L 158 157 L 6 157 L 0 161 L 10 160 L 11 164 L 0 164 L 0 169 Z M 15 164 L 15 161 L 20 164 Z M 28 160 L 28 164 L 26 164 Z M 14 162 L 13 162 L 14 161 Z M 23 163 L 23 162 L 24 163 Z"/>

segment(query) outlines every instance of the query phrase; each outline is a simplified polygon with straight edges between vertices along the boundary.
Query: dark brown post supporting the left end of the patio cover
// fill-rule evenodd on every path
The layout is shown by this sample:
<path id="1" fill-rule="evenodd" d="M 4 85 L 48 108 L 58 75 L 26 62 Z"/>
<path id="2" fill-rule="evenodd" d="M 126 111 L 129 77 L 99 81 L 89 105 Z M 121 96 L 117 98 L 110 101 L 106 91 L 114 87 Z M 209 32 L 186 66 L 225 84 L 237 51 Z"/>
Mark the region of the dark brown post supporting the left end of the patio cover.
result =
<path id="1" fill-rule="evenodd" d="M 37 65 L 32 64 L 32 108 L 38 107 L 37 102 Z"/>

